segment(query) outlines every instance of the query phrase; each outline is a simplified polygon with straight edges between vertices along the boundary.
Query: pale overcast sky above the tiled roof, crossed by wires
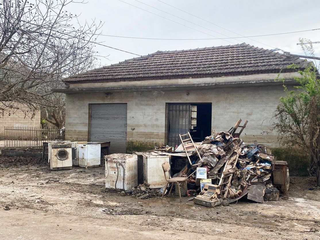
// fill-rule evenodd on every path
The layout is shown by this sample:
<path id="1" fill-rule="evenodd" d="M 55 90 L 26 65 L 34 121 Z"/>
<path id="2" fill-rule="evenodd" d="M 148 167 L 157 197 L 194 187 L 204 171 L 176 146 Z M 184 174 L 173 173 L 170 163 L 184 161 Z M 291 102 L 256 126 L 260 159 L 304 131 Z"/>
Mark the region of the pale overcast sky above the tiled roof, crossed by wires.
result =
<path id="1" fill-rule="evenodd" d="M 104 22 L 104 26 L 101 29 L 102 34 L 104 35 L 130 37 L 178 39 L 221 38 L 226 36 L 239 37 L 238 34 L 242 36 L 254 36 L 320 28 L 318 18 L 320 10 L 319 0 L 161 0 L 164 3 L 212 22 L 222 28 L 185 12 L 181 12 L 158 0 L 139 1 L 165 12 L 169 12 L 172 15 L 192 23 L 156 10 L 136 0 L 121 1 L 88 0 L 87 4 L 73 5 L 73 9 L 70 11 L 77 15 L 81 13 L 80 20 L 96 19 L 97 22 L 100 20 Z M 124 2 L 163 16 L 164 18 L 179 22 L 190 28 L 143 11 Z M 138 55 L 146 55 L 158 50 L 193 49 L 243 42 L 265 49 L 280 48 L 294 54 L 304 54 L 301 47 L 297 45 L 299 37 L 308 38 L 312 41 L 320 41 L 320 30 L 276 36 L 251 37 L 251 39 L 147 40 L 100 36 L 98 40 L 105 45 L 136 53 Z M 314 47 L 316 49 L 315 55 L 320 56 L 320 44 L 314 44 Z M 103 46 L 97 46 L 96 49 L 101 55 L 109 55 L 109 60 L 101 60 L 102 65 L 109 65 L 125 59 L 137 57 L 130 53 L 120 52 Z"/>

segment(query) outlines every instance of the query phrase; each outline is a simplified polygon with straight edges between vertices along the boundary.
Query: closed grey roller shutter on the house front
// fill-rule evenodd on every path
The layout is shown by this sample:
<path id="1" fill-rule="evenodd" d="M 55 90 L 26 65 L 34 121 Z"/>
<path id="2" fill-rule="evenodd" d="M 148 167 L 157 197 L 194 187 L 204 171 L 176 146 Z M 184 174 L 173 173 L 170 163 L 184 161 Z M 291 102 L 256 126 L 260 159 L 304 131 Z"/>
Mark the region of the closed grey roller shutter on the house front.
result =
<path id="1" fill-rule="evenodd" d="M 126 103 L 91 104 L 90 141 L 110 141 L 110 154 L 126 153 Z"/>

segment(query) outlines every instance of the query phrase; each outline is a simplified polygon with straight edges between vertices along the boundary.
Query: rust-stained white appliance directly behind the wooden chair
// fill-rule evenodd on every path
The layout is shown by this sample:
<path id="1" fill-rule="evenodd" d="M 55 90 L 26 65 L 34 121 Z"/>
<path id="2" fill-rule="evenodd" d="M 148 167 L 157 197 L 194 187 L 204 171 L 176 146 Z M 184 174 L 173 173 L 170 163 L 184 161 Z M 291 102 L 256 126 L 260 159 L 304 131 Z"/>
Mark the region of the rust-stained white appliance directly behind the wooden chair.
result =
<path id="1" fill-rule="evenodd" d="M 170 161 L 167 155 L 152 155 L 143 153 L 143 179 L 150 184 L 150 188 L 162 188 L 165 183 L 162 164 Z M 168 172 L 167 179 L 169 179 Z"/>

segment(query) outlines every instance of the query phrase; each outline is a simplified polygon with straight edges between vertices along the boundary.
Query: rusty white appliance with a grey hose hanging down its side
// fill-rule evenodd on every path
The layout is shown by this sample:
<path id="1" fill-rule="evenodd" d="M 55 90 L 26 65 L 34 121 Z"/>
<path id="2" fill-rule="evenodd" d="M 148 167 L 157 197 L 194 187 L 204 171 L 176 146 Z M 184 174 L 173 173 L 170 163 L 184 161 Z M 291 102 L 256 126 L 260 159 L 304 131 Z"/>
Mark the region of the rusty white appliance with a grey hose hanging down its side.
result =
<path id="1" fill-rule="evenodd" d="M 106 188 L 131 190 L 138 185 L 138 156 L 115 153 L 104 156 Z"/>

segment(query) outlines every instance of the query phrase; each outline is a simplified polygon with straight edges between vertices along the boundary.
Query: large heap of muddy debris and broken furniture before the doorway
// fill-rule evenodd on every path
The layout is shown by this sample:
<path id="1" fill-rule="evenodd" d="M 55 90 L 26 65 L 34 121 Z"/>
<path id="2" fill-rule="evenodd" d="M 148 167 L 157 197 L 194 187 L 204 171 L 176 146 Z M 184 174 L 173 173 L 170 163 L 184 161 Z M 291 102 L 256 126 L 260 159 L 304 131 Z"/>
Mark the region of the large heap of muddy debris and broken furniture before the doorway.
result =
<path id="1" fill-rule="evenodd" d="M 202 176 L 192 174 L 188 177 L 188 189 L 191 185 L 199 186 L 202 185 L 200 182 L 206 183 L 196 188 L 196 192 L 200 191 L 194 198 L 197 204 L 214 206 L 237 201 L 243 196 L 261 203 L 264 201 L 267 184 L 267 192 L 275 195 L 270 198 L 277 199 L 276 194 L 279 195 L 279 192 L 272 187 L 269 180 L 275 157 L 265 146 L 250 145 L 240 139 L 247 121 L 243 126 L 240 126 L 240 122 L 241 119 L 227 132 L 208 136 L 204 141 L 197 143 L 193 142 L 188 132 L 180 135 L 182 143 L 176 149 L 163 147 L 152 153 L 187 157 L 191 168 L 188 172 L 196 170 L 206 173 Z M 236 133 L 238 128 L 241 130 Z M 183 140 L 183 136 L 187 139 Z"/>

